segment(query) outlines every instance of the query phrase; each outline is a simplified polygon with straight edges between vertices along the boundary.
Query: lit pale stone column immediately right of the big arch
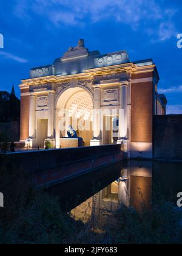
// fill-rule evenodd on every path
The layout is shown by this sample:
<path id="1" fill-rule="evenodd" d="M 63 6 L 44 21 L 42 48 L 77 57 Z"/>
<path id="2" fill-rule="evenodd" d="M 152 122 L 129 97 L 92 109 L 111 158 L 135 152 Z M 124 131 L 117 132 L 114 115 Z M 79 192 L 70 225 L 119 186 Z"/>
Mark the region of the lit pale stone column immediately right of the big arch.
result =
<path id="1" fill-rule="evenodd" d="M 101 87 L 94 88 L 94 106 L 93 106 L 93 140 L 90 146 L 99 146 L 101 144 Z"/>

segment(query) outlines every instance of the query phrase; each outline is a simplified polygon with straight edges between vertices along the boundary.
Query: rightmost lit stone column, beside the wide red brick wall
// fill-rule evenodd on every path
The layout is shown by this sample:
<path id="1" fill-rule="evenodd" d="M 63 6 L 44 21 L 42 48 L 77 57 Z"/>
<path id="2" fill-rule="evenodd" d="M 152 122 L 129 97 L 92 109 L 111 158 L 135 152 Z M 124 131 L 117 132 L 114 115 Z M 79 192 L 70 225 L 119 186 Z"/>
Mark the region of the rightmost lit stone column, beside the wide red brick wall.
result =
<path id="1" fill-rule="evenodd" d="M 123 84 L 120 88 L 120 101 L 121 107 L 119 110 L 119 140 L 118 144 L 124 143 L 126 149 L 126 142 L 127 142 L 127 85 Z"/>

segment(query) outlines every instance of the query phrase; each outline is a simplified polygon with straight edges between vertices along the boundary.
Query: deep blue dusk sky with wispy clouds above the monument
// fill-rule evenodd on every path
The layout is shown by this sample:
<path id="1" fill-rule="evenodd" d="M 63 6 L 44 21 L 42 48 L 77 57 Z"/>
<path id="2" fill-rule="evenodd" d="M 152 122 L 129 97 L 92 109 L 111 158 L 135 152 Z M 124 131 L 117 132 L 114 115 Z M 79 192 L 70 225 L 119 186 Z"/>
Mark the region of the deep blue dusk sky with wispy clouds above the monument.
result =
<path id="1" fill-rule="evenodd" d="M 84 38 L 90 51 L 127 50 L 130 60 L 152 58 L 160 74 L 159 88 L 168 113 L 182 113 L 182 34 L 180 0 L 1 0 L 0 90 L 29 70 L 48 65 Z"/>

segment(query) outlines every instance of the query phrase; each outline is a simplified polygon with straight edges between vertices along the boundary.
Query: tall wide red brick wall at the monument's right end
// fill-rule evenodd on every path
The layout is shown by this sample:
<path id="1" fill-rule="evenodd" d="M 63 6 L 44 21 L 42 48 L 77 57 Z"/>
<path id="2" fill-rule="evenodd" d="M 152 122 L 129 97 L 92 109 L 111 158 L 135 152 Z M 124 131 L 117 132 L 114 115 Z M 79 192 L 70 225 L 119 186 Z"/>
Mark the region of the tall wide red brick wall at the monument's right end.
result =
<path id="1" fill-rule="evenodd" d="M 146 77 L 152 74 L 136 74 L 132 79 Z M 153 82 L 132 83 L 131 125 L 132 142 L 152 143 Z"/>

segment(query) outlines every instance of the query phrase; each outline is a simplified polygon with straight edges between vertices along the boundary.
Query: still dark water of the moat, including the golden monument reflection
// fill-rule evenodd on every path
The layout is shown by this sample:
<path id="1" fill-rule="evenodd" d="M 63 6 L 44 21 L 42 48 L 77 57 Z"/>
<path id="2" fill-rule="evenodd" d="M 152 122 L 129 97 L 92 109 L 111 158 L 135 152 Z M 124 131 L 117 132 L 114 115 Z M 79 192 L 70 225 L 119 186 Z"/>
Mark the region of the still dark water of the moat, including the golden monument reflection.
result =
<path id="1" fill-rule="evenodd" d="M 132 160 L 53 187 L 62 210 L 86 223 L 93 216 L 104 223 L 106 212 L 120 204 L 141 210 L 155 200 L 177 204 L 182 192 L 182 163 Z"/>

